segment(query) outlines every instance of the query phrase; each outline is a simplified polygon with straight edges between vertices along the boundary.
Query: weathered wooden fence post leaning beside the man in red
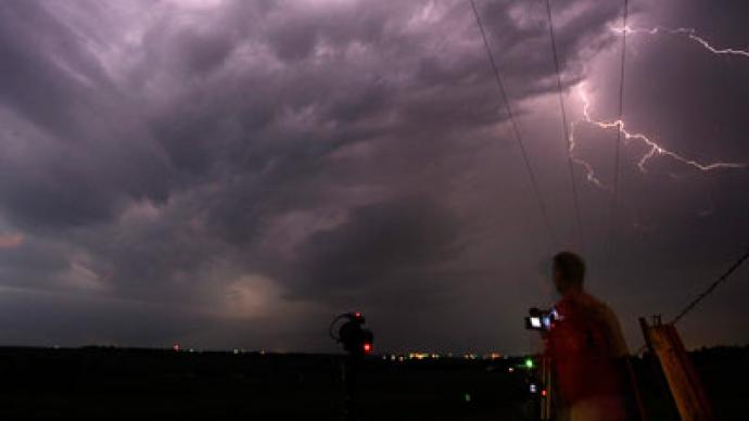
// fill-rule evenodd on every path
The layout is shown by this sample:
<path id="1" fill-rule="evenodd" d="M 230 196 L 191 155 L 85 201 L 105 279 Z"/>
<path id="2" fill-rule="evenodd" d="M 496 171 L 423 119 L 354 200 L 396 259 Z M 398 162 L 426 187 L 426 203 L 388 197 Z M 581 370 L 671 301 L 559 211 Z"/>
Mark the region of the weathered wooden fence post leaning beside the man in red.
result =
<path id="1" fill-rule="evenodd" d="M 653 317 L 652 326 L 640 318 L 639 324 L 648 348 L 658 356 L 682 420 L 712 421 L 710 401 L 676 328 L 662 323 L 660 317 Z"/>

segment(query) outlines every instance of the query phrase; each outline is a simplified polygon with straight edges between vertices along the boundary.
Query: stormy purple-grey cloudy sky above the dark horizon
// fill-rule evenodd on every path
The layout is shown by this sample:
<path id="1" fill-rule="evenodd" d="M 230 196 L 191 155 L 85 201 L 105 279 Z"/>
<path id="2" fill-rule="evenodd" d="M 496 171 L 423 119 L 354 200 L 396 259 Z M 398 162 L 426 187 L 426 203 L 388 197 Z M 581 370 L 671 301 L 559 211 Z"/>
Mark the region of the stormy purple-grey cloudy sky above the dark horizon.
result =
<path id="1" fill-rule="evenodd" d="M 617 117 L 619 1 L 553 1 L 570 120 Z M 749 239 L 749 169 L 622 148 L 610 192 L 575 166 L 575 235 L 541 0 L 477 0 L 557 242 L 467 0 L 0 3 L 0 344 L 333 350 L 364 311 L 380 350 L 528 352 L 572 248 L 630 346 Z M 631 1 L 631 26 L 749 49 L 746 1 Z M 627 38 L 624 119 L 700 163 L 749 162 L 749 56 Z M 569 123 L 571 123 L 569 122 Z M 612 180 L 614 130 L 575 153 Z M 749 269 L 685 319 L 749 342 Z"/>

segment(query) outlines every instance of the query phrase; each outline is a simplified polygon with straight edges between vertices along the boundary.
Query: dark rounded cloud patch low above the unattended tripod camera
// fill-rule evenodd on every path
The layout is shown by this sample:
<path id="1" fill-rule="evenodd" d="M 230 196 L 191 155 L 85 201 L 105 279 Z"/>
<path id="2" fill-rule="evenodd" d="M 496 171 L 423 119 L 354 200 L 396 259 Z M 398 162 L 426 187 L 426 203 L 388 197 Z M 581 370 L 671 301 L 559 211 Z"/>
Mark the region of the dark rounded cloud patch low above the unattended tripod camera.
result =
<path id="1" fill-rule="evenodd" d="M 419 197 L 395 199 L 350 212 L 341 226 L 312 235 L 295 268 L 302 285 L 295 298 L 332 299 L 345 306 L 363 291 L 395 284 L 428 283 L 460 253 L 460 224 L 442 205 Z M 323 288 L 321 288 L 323 286 Z M 433 290 L 442 288 L 436 282 Z M 420 295 L 430 295 L 423 291 Z"/>

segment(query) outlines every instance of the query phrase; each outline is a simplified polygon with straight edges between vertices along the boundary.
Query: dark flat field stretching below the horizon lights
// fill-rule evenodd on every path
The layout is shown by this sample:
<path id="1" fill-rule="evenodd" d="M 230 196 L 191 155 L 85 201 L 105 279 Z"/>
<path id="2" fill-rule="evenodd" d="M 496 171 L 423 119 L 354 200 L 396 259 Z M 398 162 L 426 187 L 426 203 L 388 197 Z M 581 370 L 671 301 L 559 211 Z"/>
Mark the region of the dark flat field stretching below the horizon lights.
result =
<path id="1" fill-rule="evenodd" d="M 693 354 L 719 419 L 734 420 L 749 374 L 746 349 Z M 337 420 L 340 357 L 79 348 L 0 349 L 0 416 L 20 419 Z M 522 359 L 391 362 L 360 377 L 361 420 L 529 420 Z M 509 368 L 513 367 L 513 372 Z M 670 419 L 648 360 L 635 360 L 652 419 Z"/>

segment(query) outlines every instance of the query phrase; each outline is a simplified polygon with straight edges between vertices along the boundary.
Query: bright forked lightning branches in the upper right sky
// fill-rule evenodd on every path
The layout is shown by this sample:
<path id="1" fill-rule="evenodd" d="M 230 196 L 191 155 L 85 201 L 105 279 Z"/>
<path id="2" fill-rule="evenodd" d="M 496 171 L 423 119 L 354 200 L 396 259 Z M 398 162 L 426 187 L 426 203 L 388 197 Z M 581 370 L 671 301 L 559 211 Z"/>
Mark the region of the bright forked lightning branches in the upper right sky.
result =
<path id="1" fill-rule="evenodd" d="M 699 43 L 702 48 L 706 50 L 710 51 L 713 54 L 729 54 L 729 55 L 740 55 L 740 56 L 746 56 L 749 58 L 749 51 L 745 50 L 736 50 L 732 48 L 716 48 L 710 44 L 703 37 L 697 35 L 697 31 L 694 28 L 675 28 L 675 29 L 669 29 L 664 28 L 661 26 L 646 29 L 646 28 L 632 28 L 629 26 L 625 27 L 611 27 L 611 30 L 613 30 L 617 34 L 647 34 L 647 35 L 658 35 L 658 34 L 670 34 L 670 35 L 683 35 L 686 36 L 687 38 L 694 40 L 695 42 Z M 701 163 L 696 160 L 688 158 L 684 155 L 681 155 L 674 151 L 668 150 L 660 145 L 658 142 L 656 142 L 653 139 L 648 137 L 647 135 L 639 133 L 639 132 L 633 132 L 627 130 L 626 125 L 623 120 L 617 119 L 617 120 L 598 120 L 595 119 L 591 113 L 591 100 L 585 91 L 585 84 L 580 84 L 576 87 L 576 93 L 577 97 L 580 98 L 580 101 L 583 103 L 583 116 L 581 119 L 577 119 L 575 122 L 572 122 L 571 124 L 571 130 L 570 130 L 570 142 L 569 142 L 569 151 L 568 153 L 570 154 L 570 157 L 574 163 L 577 165 L 582 166 L 585 168 L 586 171 L 586 178 L 589 182 L 593 184 L 605 189 L 605 190 L 611 190 L 609 186 L 604 183 L 600 178 L 596 175 L 594 166 L 583 160 L 582 157 L 575 155 L 575 148 L 576 148 L 576 139 L 575 139 L 575 133 L 580 125 L 589 125 L 593 127 L 597 127 L 602 130 L 619 130 L 625 141 L 625 143 L 629 143 L 632 140 L 636 140 L 642 142 L 646 148 L 647 152 L 639 158 L 637 163 L 637 167 L 642 173 L 647 173 L 646 164 L 657 157 L 657 156 L 668 156 L 672 160 L 675 160 L 682 164 L 691 166 L 694 168 L 697 168 L 701 171 L 711 171 L 715 169 L 725 169 L 725 168 L 747 168 L 749 167 L 749 163 L 733 163 L 733 162 L 714 162 L 714 163 Z"/>

